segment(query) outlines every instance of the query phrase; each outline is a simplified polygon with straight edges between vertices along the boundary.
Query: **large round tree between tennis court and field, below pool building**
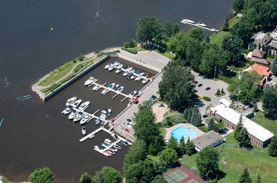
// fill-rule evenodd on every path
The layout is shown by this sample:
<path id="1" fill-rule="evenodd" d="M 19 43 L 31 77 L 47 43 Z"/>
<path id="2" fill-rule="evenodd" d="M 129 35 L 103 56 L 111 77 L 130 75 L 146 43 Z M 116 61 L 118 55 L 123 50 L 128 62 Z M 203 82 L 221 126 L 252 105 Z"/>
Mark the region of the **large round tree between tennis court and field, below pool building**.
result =
<path id="1" fill-rule="evenodd" d="M 215 177 L 219 171 L 217 158 L 218 153 L 212 147 L 206 147 L 199 153 L 195 161 L 202 177 Z"/>

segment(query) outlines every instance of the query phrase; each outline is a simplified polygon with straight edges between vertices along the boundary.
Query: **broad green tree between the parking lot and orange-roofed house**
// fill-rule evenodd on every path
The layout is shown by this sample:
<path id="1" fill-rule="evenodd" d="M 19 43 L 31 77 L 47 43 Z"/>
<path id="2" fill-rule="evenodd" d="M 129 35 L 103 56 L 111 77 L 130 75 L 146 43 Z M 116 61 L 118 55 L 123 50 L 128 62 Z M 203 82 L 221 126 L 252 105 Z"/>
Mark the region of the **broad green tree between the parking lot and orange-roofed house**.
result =
<path id="1" fill-rule="evenodd" d="M 241 79 L 229 86 L 233 99 L 249 105 L 258 94 L 258 86 L 260 85 L 260 75 L 255 71 L 251 73 L 243 73 Z"/>

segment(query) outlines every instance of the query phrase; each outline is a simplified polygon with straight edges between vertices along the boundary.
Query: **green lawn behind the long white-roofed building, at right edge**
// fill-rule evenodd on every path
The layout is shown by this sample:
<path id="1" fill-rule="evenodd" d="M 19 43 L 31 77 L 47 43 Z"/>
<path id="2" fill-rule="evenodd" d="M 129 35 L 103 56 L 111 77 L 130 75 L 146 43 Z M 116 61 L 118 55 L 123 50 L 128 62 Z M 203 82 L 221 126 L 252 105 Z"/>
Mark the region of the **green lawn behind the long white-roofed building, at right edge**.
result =
<path id="1" fill-rule="evenodd" d="M 271 131 L 272 133 L 277 133 L 277 120 L 265 118 L 265 115 L 262 113 L 262 111 L 256 113 L 256 116 L 252 118 L 252 121 L 267 128 L 267 130 Z"/>

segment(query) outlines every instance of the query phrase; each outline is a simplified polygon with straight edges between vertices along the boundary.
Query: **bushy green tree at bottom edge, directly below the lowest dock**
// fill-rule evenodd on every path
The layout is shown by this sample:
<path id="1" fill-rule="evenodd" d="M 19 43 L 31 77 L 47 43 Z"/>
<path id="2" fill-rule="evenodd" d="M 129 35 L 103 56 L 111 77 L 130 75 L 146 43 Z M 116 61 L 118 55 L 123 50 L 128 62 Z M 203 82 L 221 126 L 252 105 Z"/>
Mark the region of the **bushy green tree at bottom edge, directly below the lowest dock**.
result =
<path id="1" fill-rule="evenodd" d="M 96 181 L 98 181 L 99 183 L 121 183 L 122 182 L 120 173 L 116 171 L 116 169 L 109 166 L 103 166 L 103 168 L 100 171 L 97 171 L 95 178 L 96 178 Z"/>

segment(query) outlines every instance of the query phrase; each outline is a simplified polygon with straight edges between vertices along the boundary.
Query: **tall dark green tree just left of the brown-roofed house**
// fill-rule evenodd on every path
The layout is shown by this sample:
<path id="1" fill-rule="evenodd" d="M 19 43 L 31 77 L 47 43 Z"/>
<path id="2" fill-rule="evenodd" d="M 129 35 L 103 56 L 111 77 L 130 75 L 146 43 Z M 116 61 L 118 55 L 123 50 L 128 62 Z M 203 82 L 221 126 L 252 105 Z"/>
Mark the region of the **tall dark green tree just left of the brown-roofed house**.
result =
<path id="1" fill-rule="evenodd" d="M 242 55 L 243 41 L 237 36 L 230 35 L 225 37 L 222 41 L 222 50 L 228 52 L 228 65 L 238 66 L 240 57 Z"/>

